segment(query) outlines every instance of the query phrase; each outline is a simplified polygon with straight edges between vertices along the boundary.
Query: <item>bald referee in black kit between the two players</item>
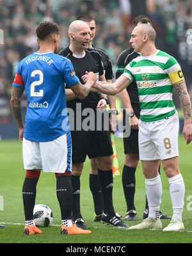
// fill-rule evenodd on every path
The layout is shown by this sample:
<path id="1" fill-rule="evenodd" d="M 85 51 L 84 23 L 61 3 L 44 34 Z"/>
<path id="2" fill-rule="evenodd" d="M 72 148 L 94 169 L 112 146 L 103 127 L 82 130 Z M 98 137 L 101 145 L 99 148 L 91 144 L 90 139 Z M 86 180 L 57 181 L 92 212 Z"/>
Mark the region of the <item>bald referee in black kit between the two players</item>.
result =
<path id="1" fill-rule="evenodd" d="M 88 49 L 90 41 L 90 28 L 82 20 L 74 20 L 68 28 L 70 45 L 60 52 L 74 65 L 74 71 L 82 81 L 81 77 L 86 71 L 94 72 L 99 81 L 106 81 L 102 67 L 101 56 L 98 52 Z M 86 108 L 93 109 L 96 116 L 97 108 L 106 108 L 106 99 L 100 97 L 100 93 L 90 92 L 84 100 L 79 100 L 70 89 L 66 89 L 67 107 L 74 110 L 74 127 L 76 128 L 77 108 L 81 111 Z M 106 96 L 106 95 L 105 95 Z M 81 104 L 81 105 L 79 105 Z M 81 116 L 82 122 L 87 116 Z M 109 132 L 107 131 L 71 131 L 72 136 L 72 188 L 73 206 L 72 220 L 77 227 L 88 228 L 84 224 L 80 211 L 80 176 L 86 156 L 95 159 L 99 166 L 98 179 L 103 200 L 102 221 L 115 227 L 128 227 L 124 221 L 116 216 L 113 208 L 113 149 Z"/>

